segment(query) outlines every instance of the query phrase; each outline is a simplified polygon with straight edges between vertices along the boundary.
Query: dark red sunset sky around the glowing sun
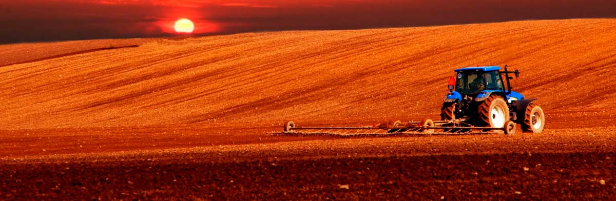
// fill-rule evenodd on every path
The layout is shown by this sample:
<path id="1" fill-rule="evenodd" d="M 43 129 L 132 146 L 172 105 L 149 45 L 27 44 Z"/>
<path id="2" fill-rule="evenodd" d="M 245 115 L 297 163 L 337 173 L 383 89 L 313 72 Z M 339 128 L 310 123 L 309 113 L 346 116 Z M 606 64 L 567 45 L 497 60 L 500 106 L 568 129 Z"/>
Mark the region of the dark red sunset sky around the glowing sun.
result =
<path id="1" fill-rule="evenodd" d="M 616 17 L 614 0 L 0 0 L 0 43 Z"/>

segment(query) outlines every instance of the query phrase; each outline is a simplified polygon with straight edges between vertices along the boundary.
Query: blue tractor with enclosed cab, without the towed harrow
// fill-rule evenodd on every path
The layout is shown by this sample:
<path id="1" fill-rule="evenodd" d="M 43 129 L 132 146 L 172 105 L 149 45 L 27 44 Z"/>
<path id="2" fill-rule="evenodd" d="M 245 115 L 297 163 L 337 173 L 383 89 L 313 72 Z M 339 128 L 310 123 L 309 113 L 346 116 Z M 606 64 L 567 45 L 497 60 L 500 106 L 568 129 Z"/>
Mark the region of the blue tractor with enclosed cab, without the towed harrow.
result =
<path id="1" fill-rule="evenodd" d="M 515 129 L 520 124 L 524 132 L 541 133 L 545 126 L 543 110 L 524 95 L 511 90 L 509 75 L 519 77 L 519 71 L 501 71 L 500 66 L 480 66 L 455 69 L 449 82 L 440 118 L 443 126 L 464 132 L 463 127 Z M 503 76 L 506 81 L 503 82 Z M 458 129 L 458 130 L 454 130 Z"/>

